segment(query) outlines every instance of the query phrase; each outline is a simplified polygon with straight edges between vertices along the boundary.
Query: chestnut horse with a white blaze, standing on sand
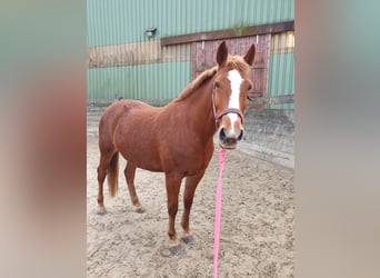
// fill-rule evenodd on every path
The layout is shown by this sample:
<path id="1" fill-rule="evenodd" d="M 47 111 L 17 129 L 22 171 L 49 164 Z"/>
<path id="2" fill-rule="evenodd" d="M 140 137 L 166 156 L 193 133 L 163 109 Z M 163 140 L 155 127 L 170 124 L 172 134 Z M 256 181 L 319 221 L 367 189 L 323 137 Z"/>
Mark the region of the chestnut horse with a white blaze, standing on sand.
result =
<path id="1" fill-rule="evenodd" d="M 106 176 L 110 196 L 117 193 L 120 152 L 128 161 L 124 175 L 138 212 L 144 210 L 134 189 L 136 168 L 164 172 L 169 249 L 173 255 L 181 250 L 174 219 L 181 181 L 187 178 L 181 239 L 192 242 L 190 209 L 213 153 L 213 135 L 218 131 L 220 146 L 226 149 L 234 149 L 243 137 L 243 112 L 251 88 L 248 73 L 253 60 L 254 44 L 244 57 L 239 57 L 230 56 L 223 41 L 217 50 L 217 66 L 202 72 L 166 107 L 156 108 L 137 100 L 120 100 L 108 107 L 99 122 L 99 214 L 106 214 Z"/>

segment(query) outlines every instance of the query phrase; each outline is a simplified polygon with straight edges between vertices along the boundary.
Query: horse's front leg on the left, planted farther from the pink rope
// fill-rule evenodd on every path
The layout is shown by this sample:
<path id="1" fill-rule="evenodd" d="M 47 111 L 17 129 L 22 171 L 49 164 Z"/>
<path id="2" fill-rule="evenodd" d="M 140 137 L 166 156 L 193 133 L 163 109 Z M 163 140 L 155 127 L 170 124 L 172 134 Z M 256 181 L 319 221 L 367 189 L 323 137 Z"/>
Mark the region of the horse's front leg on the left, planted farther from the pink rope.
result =
<path id="1" fill-rule="evenodd" d="M 169 214 L 169 250 L 172 255 L 178 255 L 181 250 L 181 244 L 176 234 L 176 215 L 178 211 L 178 195 L 181 187 L 182 177 L 176 173 L 166 173 L 168 214 Z"/>

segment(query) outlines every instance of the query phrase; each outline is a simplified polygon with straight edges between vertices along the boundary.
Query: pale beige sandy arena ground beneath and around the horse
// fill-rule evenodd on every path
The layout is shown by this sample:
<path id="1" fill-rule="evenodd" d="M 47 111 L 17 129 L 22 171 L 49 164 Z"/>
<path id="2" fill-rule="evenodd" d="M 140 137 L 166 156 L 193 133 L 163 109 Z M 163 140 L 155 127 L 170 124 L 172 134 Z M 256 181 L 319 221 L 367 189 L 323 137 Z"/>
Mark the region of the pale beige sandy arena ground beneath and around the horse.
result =
<path id="1" fill-rule="evenodd" d="M 88 277 L 212 277 L 214 196 L 218 151 L 196 191 L 190 228 L 196 236 L 184 251 L 168 256 L 168 214 L 163 173 L 138 170 L 136 187 L 144 214 L 130 202 L 120 159 L 119 193 L 108 214 L 97 215 L 97 136 L 87 150 L 87 276 Z M 182 200 L 183 187 L 180 192 Z M 181 236 L 182 202 L 177 215 Z M 293 277 L 293 170 L 239 150 L 227 151 L 223 173 L 219 277 Z"/>

